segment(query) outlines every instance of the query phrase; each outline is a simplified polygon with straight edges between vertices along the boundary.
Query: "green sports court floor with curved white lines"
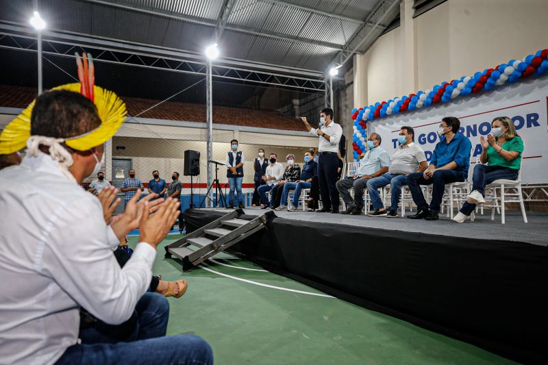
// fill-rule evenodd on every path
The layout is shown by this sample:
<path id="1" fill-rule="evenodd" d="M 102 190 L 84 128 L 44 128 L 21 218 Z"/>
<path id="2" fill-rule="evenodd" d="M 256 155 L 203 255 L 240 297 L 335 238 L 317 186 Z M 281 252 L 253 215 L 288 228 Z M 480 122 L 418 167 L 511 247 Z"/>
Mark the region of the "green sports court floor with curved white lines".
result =
<path id="1" fill-rule="evenodd" d="M 183 273 L 179 261 L 164 258 L 164 245 L 180 237 L 166 237 L 153 267 L 164 280 L 188 282 L 182 298 L 169 299 L 168 334 L 201 336 L 215 364 L 512 364 L 228 254 Z"/>

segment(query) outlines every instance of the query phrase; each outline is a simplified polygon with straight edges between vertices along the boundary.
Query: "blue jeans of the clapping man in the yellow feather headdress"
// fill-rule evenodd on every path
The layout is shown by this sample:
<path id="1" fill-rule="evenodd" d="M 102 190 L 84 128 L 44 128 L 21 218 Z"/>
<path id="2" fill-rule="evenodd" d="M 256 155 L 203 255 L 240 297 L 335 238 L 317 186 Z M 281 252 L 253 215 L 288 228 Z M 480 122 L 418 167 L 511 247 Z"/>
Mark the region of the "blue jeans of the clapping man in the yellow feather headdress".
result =
<path id="1" fill-rule="evenodd" d="M 167 299 L 147 292 L 125 323 L 82 329 L 82 344 L 68 347 L 57 364 L 212 364 L 211 348 L 198 336 L 165 336 L 168 318 Z"/>

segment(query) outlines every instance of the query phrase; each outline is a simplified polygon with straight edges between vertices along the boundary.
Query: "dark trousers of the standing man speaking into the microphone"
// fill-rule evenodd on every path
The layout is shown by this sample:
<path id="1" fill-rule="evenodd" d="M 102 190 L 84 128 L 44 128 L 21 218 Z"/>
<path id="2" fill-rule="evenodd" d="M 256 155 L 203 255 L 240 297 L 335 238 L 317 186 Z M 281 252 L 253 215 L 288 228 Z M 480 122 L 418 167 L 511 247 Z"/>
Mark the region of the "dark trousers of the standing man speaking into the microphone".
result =
<path id="1" fill-rule="evenodd" d="M 318 160 L 318 181 L 323 209 L 338 210 L 337 182 L 338 156 L 336 153 L 321 153 Z"/>

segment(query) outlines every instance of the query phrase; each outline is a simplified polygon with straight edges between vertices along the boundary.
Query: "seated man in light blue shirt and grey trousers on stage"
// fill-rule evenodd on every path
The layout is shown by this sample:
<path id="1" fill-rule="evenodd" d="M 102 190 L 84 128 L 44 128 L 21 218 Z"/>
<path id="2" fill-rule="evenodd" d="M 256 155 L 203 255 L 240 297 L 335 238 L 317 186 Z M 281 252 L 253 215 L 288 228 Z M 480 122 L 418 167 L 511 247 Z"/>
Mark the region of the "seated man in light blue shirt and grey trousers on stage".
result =
<path id="1" fill-rule="evenodd" d="M 369 150 L 360 156 L 362 161 L 356 175 L 346 176 L 344 179 L 337 181 L 337 190 L 347 205 L 347 209 L 341 214 L 361 214 L 364 207 L 364 189 L 367 186 L 367 181 L 388 172 L 390 155 L 380 147 L 381 142 L 381 136 L 376 133 L 370 134 L 367 138 L 367 148 Z M 354 189 L 353 199 L 350 195 L 351 188 Z"/>

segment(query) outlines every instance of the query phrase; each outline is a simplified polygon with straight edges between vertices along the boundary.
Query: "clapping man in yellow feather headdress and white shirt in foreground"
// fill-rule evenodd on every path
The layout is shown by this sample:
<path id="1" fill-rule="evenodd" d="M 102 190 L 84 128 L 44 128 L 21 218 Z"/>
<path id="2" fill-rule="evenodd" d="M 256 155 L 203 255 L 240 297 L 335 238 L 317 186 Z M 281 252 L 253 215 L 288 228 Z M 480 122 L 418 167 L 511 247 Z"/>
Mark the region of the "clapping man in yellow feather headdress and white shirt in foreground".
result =
<path id="1" fill-rule="evenodd" d="M 0 171 L 0 210 L 10 212 L 0 220 L 0 276 L 5 283 L 25 283 L 0 286 L 1 362 L 167 364 L 185 363 L 187 357 L 188 363 L 210 364 L 210 349 L 201 340 L 199 353 L 206 360 L 196 359 L 195 336 L 164 337 L 169 303 L 160 294 L 150 293 L 149 304 L 160 299 L 162 308 L 140 301 L 148 297 L 155 249 L 175 223 L 178 203 L 155 205 L 150 215 L 151 204 L 147 198 L 138 202 L 137 192 L 113 221 L 110 203 L 116 190 L 103 188 L 98 199 L 79 184 L 99 172 L 104 144 L 123 123 L 125 105 L 97 86 L 97 105 L 74 91 L 84 86 L 62 87 L 38 96 L 14 126 L 5 127 L 10 138 L 0 136 L 0 153 L 10 143 L 13 148 L 27 145 L 21 165 Z M 102 107 L 105 103 L 110 108 Z M 139 243 L 121 269 L 112 251 L 136 228 Z M 79 307 L 118 325 L 138 303 L 154 314 L 149 316 L 153 327 L 143 326 L 149 337 L 143 331 L 131 342 L 79 339 Z"/>

